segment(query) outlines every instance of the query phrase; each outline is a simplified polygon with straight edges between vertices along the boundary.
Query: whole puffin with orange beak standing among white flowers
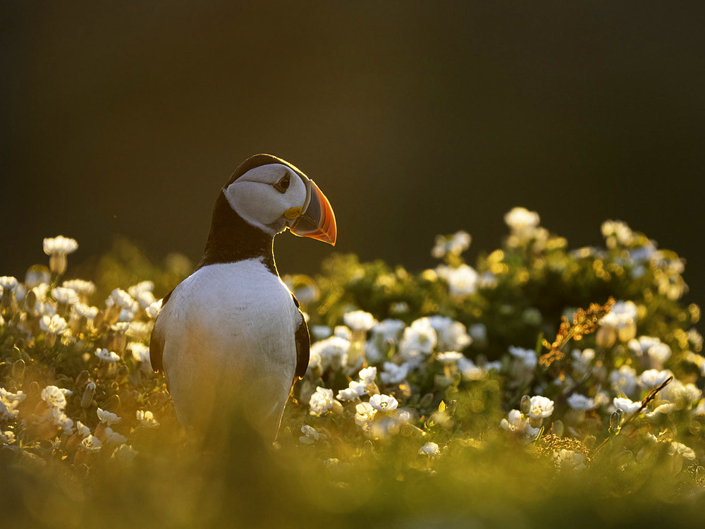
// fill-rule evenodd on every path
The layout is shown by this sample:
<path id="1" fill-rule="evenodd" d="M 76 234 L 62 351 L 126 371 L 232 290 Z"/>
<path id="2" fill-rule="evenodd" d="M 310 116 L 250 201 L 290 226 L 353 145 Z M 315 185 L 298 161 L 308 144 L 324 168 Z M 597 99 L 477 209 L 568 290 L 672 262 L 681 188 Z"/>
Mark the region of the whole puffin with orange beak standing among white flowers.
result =
<path id="1" fill-rule="evenodd" d="M 204 435 L 233 417 L 276 439 L 288 396 L 309 363 L 298 300 L 274 262 L 283 231 L 336 244 L 336 217 L 292 164 L 255 154 L 216 199 L 195 271 L 161 302 L 149 343 L 179 422 Z"/>

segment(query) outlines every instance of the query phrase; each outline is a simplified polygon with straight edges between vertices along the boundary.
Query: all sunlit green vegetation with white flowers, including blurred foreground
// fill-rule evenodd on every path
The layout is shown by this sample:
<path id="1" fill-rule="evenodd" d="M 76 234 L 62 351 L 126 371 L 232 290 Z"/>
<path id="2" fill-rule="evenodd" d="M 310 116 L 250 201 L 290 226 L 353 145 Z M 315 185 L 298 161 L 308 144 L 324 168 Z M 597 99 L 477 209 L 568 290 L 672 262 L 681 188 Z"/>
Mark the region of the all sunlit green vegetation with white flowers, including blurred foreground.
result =
<path id="1" fill-rule="evenodd" d="M 334 255 L 284 278 L 312 349 L 273 446 L 243 417 L 183 432 L 152 372 L 185 257 L 153 266 L 122 241 L 71 279 L 78 243 L 46 239 L 48 266 L 0 278 L 3 521 L 701 527 L 705 358 L 683 261 L 618 221 L 576 249 L 535 212 L 505 222 L 474 267 L 461 231 L 436 239 L 434 269 Z"/>

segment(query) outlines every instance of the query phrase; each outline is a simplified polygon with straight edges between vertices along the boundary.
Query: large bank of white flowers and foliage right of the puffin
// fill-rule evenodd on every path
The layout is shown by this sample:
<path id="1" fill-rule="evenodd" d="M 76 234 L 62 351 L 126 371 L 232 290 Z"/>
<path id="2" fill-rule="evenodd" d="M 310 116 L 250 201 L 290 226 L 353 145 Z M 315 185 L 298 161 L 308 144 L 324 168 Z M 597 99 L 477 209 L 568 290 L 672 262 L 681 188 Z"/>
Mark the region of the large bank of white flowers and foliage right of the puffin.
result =
<path id="1" fill-rule="evenodd" d="M 293 408 L 288 420 L 351 445 L 411 436 L 437 456 L 486 437 L 493 425 L 479 417 L 494 401 L 511 410 L 494 428 L 537 453 L 555 446 L 546 461 L 558 468 L 586 468 L 625 428 L 620 444 L 635 452 L 657 450 L 656 432 L 674 457 L 690 454 L 680 445 L 703 454 L 690 433 L 705 425 L 699 308 L 678 303 L 678 257 L 624 223 L 603 226 L 605 248 L 568 251 L 535 212 L 505 221 L 503 248 L 475 267 L 462 260 L 465 232 L 439 236 L 431 253 L 443 263 L 417 276 L 329 262 L 304 305 L 318 338 L 295 387 L 306 415 Z M 683 285 L 678 296 L 664 275 Z"/>

